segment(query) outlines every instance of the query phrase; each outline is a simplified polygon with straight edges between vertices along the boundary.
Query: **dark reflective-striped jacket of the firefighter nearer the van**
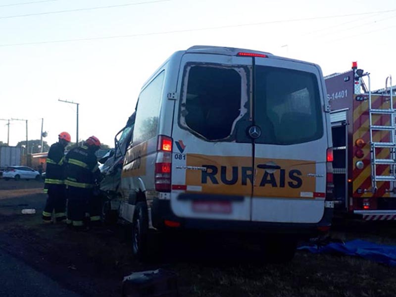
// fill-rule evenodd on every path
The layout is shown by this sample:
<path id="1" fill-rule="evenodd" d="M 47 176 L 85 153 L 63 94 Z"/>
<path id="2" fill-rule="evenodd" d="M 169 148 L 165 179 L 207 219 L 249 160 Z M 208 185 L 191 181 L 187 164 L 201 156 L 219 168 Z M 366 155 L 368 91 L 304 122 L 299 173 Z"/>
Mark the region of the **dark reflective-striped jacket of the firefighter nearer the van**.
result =
<path id="1" fill-rule="evenodd" d="M 67 186 L 93 188 L 100 178 L 98 159 L 94 150 L 87 146 L 76 147 L 70 150 L 66 157 Z"/>

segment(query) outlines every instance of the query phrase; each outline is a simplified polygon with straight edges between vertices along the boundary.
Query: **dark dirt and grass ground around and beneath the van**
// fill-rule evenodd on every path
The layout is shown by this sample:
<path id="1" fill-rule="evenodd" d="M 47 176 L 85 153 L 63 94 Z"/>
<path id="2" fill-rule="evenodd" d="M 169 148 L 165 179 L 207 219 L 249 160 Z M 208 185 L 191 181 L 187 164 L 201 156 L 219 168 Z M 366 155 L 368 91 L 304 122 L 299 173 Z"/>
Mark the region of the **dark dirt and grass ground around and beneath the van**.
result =
<path id="1" fill-rule="evenodd" d="M 181 296 L 396 296 L 396 269 L 356 257 L 297 251 L 287 264 L 267 264 L 255 246 L 216 234 L 174 235 L 161 262 L 142 264 L 131 253 L 128 226 L 75 233 L 44 225 L 41 182 L 0 179 L 0 248 L 82 296 L 120 296 L 122 278 L 164 268 L 177 273 Z M 22 215 L 22 208 L 36 208 Z M 333 238 L 396 244 L 395 224 L 336 222 Z"/>

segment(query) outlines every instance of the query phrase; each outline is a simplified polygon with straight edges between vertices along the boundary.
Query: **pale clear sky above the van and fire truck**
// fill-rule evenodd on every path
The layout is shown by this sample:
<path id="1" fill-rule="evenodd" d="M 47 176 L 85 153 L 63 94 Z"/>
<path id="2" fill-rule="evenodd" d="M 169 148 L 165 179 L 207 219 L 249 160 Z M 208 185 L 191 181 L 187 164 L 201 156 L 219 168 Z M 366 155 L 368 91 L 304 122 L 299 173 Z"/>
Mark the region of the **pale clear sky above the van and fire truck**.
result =
<path id="1" fill-rule="evenodd" d="M 372 89 L 396 81 L 394 0 L 0 0 L 0 119 L 27 119 L 28 138 L 114 135 L 148 77 L 174 52 L 211 45 L 270 52 L 319 64 L 351 62 Z M 394 82 L 396 84 L 396 82 Z M 0 141 L 7 141 L 0 120 Z M 10 121 L 9 144 L 26 139 Z"/>

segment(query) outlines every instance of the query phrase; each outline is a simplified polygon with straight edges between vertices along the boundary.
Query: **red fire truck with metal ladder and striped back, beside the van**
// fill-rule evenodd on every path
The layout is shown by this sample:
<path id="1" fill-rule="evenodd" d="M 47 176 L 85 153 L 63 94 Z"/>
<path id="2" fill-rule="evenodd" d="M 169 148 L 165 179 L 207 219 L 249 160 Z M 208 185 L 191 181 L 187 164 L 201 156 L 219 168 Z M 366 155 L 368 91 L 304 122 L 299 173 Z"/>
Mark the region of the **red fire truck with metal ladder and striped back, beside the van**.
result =
<path id="1" fill-rule="evenodd" d="M 335 210 L 364 220 L 396 220 L 396 104 L 392 76 L 371 91 L 358 69 L 325 77 L 331 106 Z"/>

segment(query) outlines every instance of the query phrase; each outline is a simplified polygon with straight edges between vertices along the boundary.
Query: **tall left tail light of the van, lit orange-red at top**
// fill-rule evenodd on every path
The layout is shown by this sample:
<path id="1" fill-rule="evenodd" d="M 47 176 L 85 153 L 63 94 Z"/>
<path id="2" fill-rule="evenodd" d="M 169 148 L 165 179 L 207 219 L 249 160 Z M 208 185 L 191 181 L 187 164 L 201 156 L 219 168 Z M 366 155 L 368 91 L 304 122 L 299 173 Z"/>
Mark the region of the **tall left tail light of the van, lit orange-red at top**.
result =
<path id="1" fill-rule="evenodd" d="M 155 190 L 158 192 L 170 192 L 171 190 L 172 144 L 171 137 L 158 136 L 154 172 Z"/>

